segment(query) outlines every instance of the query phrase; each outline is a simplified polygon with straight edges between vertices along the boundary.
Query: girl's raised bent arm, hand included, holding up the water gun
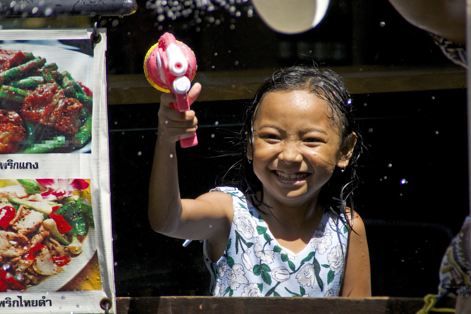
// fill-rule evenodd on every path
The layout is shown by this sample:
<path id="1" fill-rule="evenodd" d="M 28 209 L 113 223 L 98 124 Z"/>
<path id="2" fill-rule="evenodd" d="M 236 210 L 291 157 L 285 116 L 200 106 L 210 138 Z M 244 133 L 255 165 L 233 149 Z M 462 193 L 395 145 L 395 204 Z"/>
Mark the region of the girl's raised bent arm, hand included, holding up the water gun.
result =
<path id="1" fill-rule="evenodd" d="M 200 91 L 201 85 L 195 83 L 188 93 L 190 104 Z M 193 110 L 180 113 L 171 108 L 171 102 L 176 102 L 175 95 L 162 94 L 149 185 L 150 224 L 154 231 L 180 239 L 208 239 L 211 243 L 221 233 L 228 238 L 233 217 L 230 195 L 211 192 L 196 200 L 180 199 L 175 142 L 179 136 L 195 132 L 198 120 Z"/>

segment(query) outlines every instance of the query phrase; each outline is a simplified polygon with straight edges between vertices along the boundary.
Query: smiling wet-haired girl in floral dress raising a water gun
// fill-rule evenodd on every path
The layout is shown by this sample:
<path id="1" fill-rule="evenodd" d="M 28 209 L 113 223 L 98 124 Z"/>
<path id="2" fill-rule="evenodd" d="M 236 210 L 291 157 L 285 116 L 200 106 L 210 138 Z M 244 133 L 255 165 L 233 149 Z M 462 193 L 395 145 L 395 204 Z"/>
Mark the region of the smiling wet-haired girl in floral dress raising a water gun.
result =
<path id="1" fill-rule="evenodd" d="M 191 102 L 200 91 L 195 83 Z M 297 66 L 267 79 L 245 119 L 242 191 L 195 200 L 180 199 L 175 142 L 197 119 L 175 101 L 162 94 L 148 216 L 156 232 L 205 239 L 211 295 L 371 296 L 365 227 L 345 206 L 360 149 L 336 73 Z"/>

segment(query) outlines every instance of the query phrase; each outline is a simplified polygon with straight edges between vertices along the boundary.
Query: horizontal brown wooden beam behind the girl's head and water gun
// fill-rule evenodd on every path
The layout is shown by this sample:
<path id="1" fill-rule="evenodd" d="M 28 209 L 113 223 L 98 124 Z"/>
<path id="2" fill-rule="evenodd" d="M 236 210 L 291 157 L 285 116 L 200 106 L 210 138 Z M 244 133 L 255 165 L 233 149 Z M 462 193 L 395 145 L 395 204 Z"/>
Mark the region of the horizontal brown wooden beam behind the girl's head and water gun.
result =
<path id="1" fill-rule="evenodd" d="M 344 79 L 351 94 L 398 91 L 464 89 L 466 72 L 454 65 L 445 67 L 332 67 Z M 194 82 L 203 85 L 198 100 L 249 99 L 273 69 L 197 72 Z M 108 104 L 151 104 L 160 102 L 144 74 L 108 76 Z"/>

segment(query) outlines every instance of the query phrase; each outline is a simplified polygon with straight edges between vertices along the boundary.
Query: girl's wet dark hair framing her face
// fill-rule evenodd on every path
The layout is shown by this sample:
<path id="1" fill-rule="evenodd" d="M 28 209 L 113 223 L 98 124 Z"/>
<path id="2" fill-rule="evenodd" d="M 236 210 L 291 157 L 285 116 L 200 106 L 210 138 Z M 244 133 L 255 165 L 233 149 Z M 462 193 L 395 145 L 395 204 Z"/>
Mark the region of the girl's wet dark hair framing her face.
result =
<path id="1" fill-rule="evenodd" d="M 249 163 L 246 158 L 247 145 L 253 145 L 253 123 L 257 119 L 260 104 L 268 93 L 294 90 L 308 91 L 327 102 L 332 112 L 332 116 L 329 118 L 340 132 L 339 150 L 351 140 L 353 132 L 357 134 L 357 144 L 349 165 L 344 171 L 341 171 L 339 167 L 335 167 L 332 177 L 321 188 L 318 199 L 328 209 L 337 214 L 345 212 L 344 206 L 353 209 L 353 190 L 358 184 L 356 170 L 357 159 L 363 147 L 362 139 L 356 129 L 350 94 L 345 83 L 337 73 L 329 69 L 319 69 L 316 65 L 312 67 L 298 65 L 277 71 L 266 79 L 258 89 L 244 117 L 244 128 L 242 130 L 244 149 L 240 168 L 241 182 L 239 184 L 242 185 L 244 193 L 250 197 L 252 204 L 260 210 L 259 206 L 263 204 L 262 183 L 253 172 L 252 163 Z M 259 191 L 261 192 L 260 198 L 257 196 Z"/>

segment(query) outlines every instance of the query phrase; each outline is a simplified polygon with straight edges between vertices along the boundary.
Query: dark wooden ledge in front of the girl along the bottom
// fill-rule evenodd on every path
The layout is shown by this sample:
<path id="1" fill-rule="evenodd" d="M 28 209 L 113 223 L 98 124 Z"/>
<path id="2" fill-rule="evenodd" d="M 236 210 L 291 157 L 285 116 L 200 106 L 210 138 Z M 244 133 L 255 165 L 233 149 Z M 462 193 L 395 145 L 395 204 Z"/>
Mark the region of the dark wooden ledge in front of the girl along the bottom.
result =
<path id="1" fill-rule="evenodd" d="M 415 314 L 422 298 L 117 298 L 117 314 Z"/>

